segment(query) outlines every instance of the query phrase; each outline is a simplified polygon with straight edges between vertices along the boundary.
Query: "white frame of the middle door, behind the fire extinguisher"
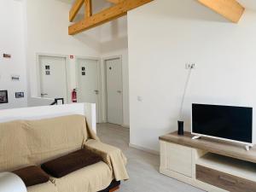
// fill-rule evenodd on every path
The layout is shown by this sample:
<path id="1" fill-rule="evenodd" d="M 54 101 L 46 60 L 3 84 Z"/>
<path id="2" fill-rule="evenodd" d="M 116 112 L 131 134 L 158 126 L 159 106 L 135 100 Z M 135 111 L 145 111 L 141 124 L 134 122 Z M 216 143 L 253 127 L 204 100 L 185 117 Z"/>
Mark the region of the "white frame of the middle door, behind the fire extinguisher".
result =
<path id="1" fill-rule="evenodd" d="M 98 82 L 98 89 L 99 89 L 99 94 L 98 94 L 98 112 L 97 112 L 97 115 L 98 115 L 98 121 L 99 123 L 102 123 L 102 100 L 101 100 L 101 97 L 102 97 L 102 81 L 101 81 L 101 58 L 99 57 L 92 57 L 92 56 L 75 56 L 75 76 L 76 76 L 76 88 L 79 89 L 79 59 L 81 60 L 93 60 L 93 61 L 97 61 L 97 82 Z M 79 92 L 78 92 L 79 93 Z"/>

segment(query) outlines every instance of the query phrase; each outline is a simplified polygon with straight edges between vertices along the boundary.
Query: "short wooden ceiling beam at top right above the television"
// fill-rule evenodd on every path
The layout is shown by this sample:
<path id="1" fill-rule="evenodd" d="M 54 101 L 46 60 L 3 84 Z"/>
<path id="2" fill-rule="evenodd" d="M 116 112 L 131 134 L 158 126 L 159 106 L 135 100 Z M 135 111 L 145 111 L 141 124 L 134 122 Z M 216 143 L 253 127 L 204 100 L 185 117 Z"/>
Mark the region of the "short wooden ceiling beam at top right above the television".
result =
<path id="1" fill-rule="evenodd" d="M 241 19 L 244 12 L 244 7 L 236 0 L 198 0 L 198 2 L 234 23 Z"/>

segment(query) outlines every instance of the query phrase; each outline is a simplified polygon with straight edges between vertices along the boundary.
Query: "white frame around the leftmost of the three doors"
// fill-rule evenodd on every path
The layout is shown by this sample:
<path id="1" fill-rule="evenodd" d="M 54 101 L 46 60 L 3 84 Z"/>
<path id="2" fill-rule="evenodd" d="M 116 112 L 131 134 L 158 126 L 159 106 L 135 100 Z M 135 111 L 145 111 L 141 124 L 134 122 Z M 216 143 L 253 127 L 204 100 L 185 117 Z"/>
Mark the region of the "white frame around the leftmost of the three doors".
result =
<path id="1" fill-rule="evenodd" d="M 70 94 L 68 92 L 70 84 L 68 82 L 70 82 L 70 78 L 69 78 L 69 73 L 68 73 L 68 66 L 69 66 L 69 55 L 60 55 L 60 54 L 45 54 L 45 53 L 37 53 L 36 57 L 37 57 L 37 83 L 38 83 L 38 97 L 42 97 L 41 96 L 41 63 L 40 63 L 40 56 L 48 56 L 48 57 L 59 57 L 59 58 L 64 58 L 65 59 L 65 72 L 66 72 L 66 90 L 67 90 L 67 103 L 70 102 Z"/>

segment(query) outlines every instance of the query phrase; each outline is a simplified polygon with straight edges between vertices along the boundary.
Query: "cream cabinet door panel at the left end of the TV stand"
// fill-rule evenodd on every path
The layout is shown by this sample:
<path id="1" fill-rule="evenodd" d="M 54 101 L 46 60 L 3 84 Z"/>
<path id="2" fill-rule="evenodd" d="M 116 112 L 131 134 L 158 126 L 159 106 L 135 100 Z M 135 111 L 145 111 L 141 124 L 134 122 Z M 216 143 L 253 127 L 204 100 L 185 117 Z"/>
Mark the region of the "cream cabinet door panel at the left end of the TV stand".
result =
<path id="1" fill-rule="evenodd" d="M 161 167 L 192 177 L 192 149 L 174 143 L 160 142 Z"/>

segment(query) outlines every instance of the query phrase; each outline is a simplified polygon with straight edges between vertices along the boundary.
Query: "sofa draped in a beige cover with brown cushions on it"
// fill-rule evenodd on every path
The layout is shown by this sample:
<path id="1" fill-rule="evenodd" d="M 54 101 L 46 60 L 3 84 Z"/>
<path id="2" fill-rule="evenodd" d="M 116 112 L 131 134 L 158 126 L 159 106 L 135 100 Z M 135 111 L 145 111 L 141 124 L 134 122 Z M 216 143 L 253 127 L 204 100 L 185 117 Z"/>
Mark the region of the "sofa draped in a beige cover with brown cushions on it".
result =
<path id="1" fill-rule="evenodd" d="M 128 179 L 126 158 L 119 150 L 101 143 L 86 125 L 84 116 L 53 119 L 16 120 L 0 124 L 0 172 L 26 166 L 40 166 L 80 148 L 101 154 L 103 161 L 65 177 L 50 177 L 48 183 L 29 187 L 29 192 L 96 192 L 106 189 L 113 179 Z"/>

